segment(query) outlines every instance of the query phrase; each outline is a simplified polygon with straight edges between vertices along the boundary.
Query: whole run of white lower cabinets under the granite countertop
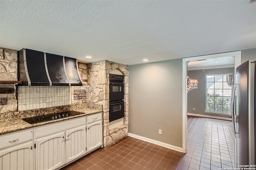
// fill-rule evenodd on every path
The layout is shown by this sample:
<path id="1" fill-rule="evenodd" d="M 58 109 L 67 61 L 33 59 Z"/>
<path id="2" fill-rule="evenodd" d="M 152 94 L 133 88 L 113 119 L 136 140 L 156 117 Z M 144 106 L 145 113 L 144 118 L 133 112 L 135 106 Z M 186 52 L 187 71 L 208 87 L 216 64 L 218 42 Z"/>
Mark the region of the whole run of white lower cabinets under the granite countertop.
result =
<path id="1" fill-rule="evenodd" d="M 102 113 L 0 135 L 0 170 L 61 168 L 103 146 L 102 135 Z"/>

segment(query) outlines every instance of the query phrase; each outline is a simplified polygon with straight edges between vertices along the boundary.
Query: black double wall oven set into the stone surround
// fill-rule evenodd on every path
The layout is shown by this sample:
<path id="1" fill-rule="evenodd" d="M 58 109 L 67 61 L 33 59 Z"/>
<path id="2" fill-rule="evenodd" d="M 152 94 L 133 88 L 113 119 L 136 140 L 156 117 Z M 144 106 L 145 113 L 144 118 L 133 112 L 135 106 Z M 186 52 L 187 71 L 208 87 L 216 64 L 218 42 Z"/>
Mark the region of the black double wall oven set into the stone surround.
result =
<path id="1" fill-rule="evenodd" d="M 124 117 L 124 76 L 109 74 L 109 121 Z"/>

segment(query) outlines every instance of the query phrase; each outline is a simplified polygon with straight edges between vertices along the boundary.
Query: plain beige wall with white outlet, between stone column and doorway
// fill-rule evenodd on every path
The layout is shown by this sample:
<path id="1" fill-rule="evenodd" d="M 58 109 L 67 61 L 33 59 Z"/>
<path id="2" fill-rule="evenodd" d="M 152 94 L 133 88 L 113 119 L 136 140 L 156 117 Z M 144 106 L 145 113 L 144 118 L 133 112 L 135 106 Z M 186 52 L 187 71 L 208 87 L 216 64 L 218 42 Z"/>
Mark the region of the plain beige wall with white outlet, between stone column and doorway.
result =
<path id="1" fill-rule="evenodd" d="M 182 59 L 129 66 L 128 132 L 182 148 Z"/>

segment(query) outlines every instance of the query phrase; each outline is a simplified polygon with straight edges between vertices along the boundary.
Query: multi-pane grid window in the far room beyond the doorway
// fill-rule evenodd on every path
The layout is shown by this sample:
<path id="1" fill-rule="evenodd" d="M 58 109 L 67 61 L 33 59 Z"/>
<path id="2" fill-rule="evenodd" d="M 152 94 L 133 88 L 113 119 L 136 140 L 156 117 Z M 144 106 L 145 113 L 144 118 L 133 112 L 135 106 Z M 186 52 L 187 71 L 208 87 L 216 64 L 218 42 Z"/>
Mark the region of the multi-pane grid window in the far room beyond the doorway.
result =
<path id="1" fill-rule="evenodd" d="M 206 75 L 206 111 L 229 113 L 231 94 L 226 75 Z"/>

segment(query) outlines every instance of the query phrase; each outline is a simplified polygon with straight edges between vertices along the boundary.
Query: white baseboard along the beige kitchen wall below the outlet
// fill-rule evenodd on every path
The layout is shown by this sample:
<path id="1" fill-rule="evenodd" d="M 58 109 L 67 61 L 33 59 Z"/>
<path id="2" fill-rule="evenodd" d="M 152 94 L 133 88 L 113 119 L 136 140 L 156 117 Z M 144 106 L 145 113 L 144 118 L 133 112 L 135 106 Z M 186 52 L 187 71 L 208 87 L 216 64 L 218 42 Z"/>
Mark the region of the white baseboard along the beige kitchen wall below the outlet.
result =
<path id="1" fill-rule="evenodd" d="M 150 143 L 153 143 L 153 144 L 157 144 L 159 146 L 163 146 L 165 148 L 169 148 L 169 149 L 172 149 L 172 150 L 176 150 L 178 152 L 182 152 L 182 153 L 185 153 L 185 150 L 183 150 L 182 148 L 180 147 L 177 147 L 177 146 L 173 146 L 173 145 L 170 145 L 170 144 L 167 144 L 167 143 L 163 143 L 163 142 L 159 142 L 157 140 L 153 140 L 153 139 L 150 139 L 150 138 L 145 138 L 143 136 L 139 136 L 139 135 L 136 135 L 136 134 L 132 134 L 132 133 L 128 133 L 128 136 L 130 137 L 133 137 L 133 138 L 137 138 L 137 139 L 140 139 L 140 140 L 144 140 L 146 142 L 150 142 Z"/>

